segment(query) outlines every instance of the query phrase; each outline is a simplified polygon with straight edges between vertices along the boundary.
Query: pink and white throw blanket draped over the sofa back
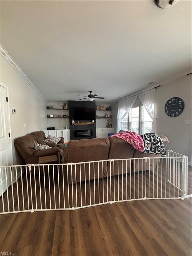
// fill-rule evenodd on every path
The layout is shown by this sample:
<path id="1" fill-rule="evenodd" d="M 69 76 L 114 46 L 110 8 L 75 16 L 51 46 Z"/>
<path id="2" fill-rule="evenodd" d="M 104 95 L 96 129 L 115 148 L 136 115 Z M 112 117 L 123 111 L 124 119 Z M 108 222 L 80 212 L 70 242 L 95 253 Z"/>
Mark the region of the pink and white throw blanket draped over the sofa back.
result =
<path id="1" fill-rule="evenodd" d="M 117 137 L 122 140 L 125 140 L 126 142 L 131 144 L 135 149 L 141 152 L 145 150 L 143 139 L 140 135 L 136 134 L 136 132 L 130 132 L 130 131 L 119 132 L 118 134 L 109 136 L 109 138 L 110 137 Z"/>

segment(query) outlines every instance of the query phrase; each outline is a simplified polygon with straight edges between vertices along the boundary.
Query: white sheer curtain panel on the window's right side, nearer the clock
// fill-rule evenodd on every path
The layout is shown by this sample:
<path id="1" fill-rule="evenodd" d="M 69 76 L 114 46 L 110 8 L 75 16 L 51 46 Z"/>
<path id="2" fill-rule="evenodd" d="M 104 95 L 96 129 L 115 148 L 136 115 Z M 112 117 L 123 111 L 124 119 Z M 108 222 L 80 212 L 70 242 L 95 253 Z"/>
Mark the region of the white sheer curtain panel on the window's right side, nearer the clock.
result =
<path id="1" fill-rule="evenodd" d="M 156 132 L 156 120 L 155 120 L 155 89 L 142 92 L 139 94 L 139 98 L 150 115 L 152 122 L 152 132 Z"/>

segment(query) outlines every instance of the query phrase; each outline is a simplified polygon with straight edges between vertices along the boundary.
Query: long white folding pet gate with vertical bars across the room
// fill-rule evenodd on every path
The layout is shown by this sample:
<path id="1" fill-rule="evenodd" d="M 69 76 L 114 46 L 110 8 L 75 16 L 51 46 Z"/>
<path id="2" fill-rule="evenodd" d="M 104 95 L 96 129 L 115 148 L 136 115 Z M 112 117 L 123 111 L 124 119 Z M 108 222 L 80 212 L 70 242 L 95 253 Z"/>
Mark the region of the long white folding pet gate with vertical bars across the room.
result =
<path id="1" fill-rule="evenodd" d="M 192 196 L 189 175 L 188 157 L 171 150 L 166 157 L 158 158 L 146 154 L 135 159 L 1 166 L 0 214 L 74 210 L 143 199 L 184 199 Z"/>

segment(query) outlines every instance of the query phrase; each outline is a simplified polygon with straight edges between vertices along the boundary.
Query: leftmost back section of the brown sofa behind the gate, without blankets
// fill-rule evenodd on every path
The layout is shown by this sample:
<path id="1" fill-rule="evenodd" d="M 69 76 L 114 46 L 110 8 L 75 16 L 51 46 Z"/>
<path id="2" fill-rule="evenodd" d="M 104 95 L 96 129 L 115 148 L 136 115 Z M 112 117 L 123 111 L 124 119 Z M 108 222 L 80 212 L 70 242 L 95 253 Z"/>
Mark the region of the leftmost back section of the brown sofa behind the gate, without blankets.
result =
<path id="1" fill-rule="evenodd" d="M 68 163 L 107 160 L 109 154 L 109 139 L 71 140 L 68 142 Z M 90 167 L 90 168 L 89 168 Z M 90 170 L 90 172 L 89 172 Z M 98 171 L 99 170 L 99 171 Z M 68 166 L 69 184 L 107 176 L 106 162 L 86 163 Z"/>

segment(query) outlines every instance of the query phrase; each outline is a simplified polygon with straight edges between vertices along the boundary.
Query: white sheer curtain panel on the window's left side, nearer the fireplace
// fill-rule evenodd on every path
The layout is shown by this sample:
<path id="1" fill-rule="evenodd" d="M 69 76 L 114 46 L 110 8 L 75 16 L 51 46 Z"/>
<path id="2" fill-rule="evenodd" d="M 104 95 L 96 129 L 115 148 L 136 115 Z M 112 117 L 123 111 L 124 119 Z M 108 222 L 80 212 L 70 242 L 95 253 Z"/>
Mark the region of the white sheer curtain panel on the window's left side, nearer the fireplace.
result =
<path id="1" fill-rule="evenodd" d="M 116 131 L 117 133 L 119 132 L 119 130 L 122 130 L 121 129 L 121 120 L 123 120 L 126 117 L 129 110 L 133 106 L 133 103 L 135 102 L 136 98 L 137 98 L 137 95 L 133 96 L 133 97 L 130 97 L 126 100 L 122 100 L 118 103 L 117 131 Z"/>

